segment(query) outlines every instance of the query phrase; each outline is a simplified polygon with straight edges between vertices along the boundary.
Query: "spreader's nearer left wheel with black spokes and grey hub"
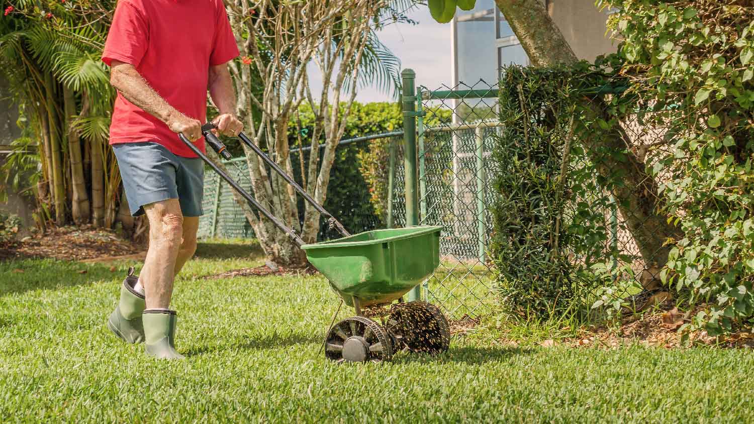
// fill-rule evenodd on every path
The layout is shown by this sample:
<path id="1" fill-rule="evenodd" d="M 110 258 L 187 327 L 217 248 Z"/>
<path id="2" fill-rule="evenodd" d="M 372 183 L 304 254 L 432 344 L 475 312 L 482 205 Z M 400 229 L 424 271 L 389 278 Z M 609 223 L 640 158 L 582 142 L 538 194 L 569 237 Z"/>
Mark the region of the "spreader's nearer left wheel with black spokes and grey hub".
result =
<path id="1" fill-rule="evenodd" d="M 379 324 L 363 316 L 337 323 L 327 333 L 325 356 L 342 362 L 382 362 L 393 356 L 393 339 Z"/>

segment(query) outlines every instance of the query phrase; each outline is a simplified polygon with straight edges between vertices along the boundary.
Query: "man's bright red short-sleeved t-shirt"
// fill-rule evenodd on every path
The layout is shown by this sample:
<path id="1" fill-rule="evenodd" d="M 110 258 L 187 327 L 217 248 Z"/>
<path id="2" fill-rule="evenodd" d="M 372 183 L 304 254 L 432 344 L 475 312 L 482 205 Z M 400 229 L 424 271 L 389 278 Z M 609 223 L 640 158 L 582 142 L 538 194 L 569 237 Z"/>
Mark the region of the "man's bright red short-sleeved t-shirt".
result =
<path id="1" fill-rule="evenodd" d="M 238 56 L 222 0 L 120 0 L 103 62 L 130 63 L 173 108 L 204 124 L 210 66 Z M 158 142 L 182 157 L 196 155 L 161 120 L 115 99 L 110 144 Z M 204 151 L 204 139 L 196 142 Z"/>

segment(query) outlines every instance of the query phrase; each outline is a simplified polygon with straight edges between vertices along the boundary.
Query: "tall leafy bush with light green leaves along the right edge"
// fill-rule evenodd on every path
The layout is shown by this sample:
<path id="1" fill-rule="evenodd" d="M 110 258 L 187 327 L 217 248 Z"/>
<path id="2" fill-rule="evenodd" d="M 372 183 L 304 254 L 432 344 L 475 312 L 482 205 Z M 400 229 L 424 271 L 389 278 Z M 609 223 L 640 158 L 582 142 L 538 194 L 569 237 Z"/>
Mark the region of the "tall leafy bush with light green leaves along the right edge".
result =
<path id="1" fill-rule="evenodd" d="M 624 39 L 621 69 L 667 131 L 654 164 L 667 212 L 685 236 L 662 280 L 713 303 L 694 328 L 731 331 L 754 318 L 754 7 L 751 2 L 602 0 Z"/>

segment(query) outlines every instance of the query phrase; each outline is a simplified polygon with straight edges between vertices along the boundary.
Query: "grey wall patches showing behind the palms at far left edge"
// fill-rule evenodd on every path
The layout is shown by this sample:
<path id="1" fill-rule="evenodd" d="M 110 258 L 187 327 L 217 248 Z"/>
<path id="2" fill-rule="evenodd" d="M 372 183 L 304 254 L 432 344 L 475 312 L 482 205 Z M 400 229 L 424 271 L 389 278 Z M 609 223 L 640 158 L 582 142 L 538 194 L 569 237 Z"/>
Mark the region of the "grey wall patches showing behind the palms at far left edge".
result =
<path id="1" fill-rule="evenodd" d="M 8 99 L 8 82 L 0 78 L 0 151 L 7 151 L 14 139 L 20 136 L 16 125 L 18 109 Z M 0 166 L 5 163 L 5 153 L 0 153 Z M 11 212 L 20 216 L 24 225 L 33 223 L 33 200 L 22 197 L 15 192 L 8 193 L 8 203 L 0 203 L 0 211 Z"/>

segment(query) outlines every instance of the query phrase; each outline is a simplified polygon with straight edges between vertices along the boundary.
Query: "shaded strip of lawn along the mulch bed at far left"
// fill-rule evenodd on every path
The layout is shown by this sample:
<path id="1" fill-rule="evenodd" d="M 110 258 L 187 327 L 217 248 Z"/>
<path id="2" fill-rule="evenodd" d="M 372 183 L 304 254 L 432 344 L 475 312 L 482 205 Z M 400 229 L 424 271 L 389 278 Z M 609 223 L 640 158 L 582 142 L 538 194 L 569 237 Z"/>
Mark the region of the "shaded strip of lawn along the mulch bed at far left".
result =
<path id="1" fill-rule="evenodd" d="M 126 276 L 129 265 L 82 264 L 53 259 L 3 261 L 0 262 L 0 296 L 121 280 Z"/>

